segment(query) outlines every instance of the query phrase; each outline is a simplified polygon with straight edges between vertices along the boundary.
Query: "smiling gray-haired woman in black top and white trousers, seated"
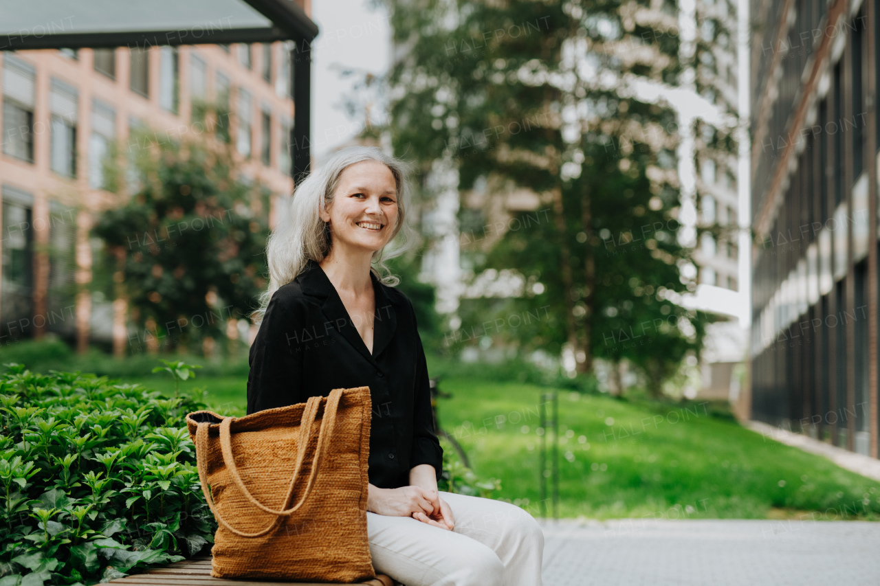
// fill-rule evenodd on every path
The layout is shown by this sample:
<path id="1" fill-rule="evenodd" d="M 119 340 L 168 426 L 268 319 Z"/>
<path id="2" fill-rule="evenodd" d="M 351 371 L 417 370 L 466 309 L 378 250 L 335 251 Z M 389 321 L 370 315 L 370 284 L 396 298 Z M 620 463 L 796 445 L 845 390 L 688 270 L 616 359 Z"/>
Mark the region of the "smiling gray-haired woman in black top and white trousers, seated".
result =
<path id="1" fill-rule="evenodd" d="M 544 534 L 531 515 L 437 490 L 443 449 L 413 304 L 373 267 L 388 273 L 385 246 L 407 236 L 403 168 L 374 147 L 341 150 L 278 215 L 247 413 L 369 387 L 364 516 L 376 571 L 407 586 L 540 586 Z"/>

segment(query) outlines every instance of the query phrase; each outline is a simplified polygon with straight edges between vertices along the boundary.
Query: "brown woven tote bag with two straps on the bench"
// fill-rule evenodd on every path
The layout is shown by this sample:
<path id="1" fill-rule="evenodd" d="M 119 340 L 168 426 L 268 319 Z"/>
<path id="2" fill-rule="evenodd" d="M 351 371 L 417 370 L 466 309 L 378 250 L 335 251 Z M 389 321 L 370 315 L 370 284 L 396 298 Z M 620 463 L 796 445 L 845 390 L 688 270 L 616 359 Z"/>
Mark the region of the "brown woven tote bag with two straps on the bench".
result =
<path id="1" fill-rule="evenodd" d="M 187 414 L 218 524 L 211 575 L 298 582 L 376 577 L 367 535 L 370 387 L 244 417 Z"/>

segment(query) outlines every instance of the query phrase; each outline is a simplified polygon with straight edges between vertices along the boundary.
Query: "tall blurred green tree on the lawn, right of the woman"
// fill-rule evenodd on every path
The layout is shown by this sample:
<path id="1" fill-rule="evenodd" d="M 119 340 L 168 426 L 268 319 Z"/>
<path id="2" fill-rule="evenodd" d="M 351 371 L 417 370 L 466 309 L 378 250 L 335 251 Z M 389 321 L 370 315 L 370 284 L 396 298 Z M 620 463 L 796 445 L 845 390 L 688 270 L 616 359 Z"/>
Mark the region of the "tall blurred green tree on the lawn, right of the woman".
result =
<path id="1" fill-rule="evenodd" d="M 386 4 L 403 55 L 388 79 L 395 150 L 423 169 L 454 157 L 461 191 L 480 180 L 502 197 L 524 187 L 549 211 L 477 264 L 515 267 L 544 286 L 491 302 L 496 312 L 552 308 L 511 337 L 522 348 L 570 348 L 580 372 L 594 356 L 627 357 L 650 377 L 656 360 L 698 352 L 703 325 L 673 301 L 695 289 L 680 274 L 691 250 L 678 241 L 677 115 L 640 90 L 678 84 L 676 5 Z M 607 343 L 634 319 L 649 321 L 656 344 Z M 680 350 L 667 352 L 673 345 Z"/>

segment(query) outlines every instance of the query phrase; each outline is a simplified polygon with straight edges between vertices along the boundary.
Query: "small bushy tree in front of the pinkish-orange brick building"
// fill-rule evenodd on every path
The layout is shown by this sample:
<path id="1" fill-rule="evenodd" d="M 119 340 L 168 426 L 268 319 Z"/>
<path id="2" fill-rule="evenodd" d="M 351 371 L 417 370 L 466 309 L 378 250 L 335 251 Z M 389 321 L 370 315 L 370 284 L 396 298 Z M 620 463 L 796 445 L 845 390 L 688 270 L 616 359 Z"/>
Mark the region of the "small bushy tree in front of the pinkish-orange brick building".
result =
<path id="1" fill-rule="evenodd" d="M 133 194 L 93 228 L 120 262 L 139 345 L 224 337 L 266 285 L 268 189 L 241 178 L 228 145 L 204 138 L 138 131 L 134 164 L 119 173 L 138 178 Z"/>

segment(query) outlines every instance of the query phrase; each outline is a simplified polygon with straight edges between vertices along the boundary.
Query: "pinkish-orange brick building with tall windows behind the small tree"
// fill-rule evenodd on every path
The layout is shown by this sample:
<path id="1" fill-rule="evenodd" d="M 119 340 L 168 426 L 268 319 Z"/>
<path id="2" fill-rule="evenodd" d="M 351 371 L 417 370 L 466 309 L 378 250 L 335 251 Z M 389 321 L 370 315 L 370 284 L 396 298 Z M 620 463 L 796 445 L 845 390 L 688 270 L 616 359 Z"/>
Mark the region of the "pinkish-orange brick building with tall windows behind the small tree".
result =
<path id="1" fill-rule="evenodd" d="M 311 13 L 308 0 L 297 4 Z M 216 139 L 235 146 L 244 177 L 290 194 L 290 48 L 0 51 L 0 346 L 55 332 L 78 348 L 124 347 L 127 308 L 88 287 L 102 253 L 90 229 L 128 195 L 105 188 L 102 162 L 114 142 L 123 154 L 146 146 L 131 138 L 138 126 L 156 142 L 215 140 L 200 106 L 223 105 L 231 116 Z"/>

